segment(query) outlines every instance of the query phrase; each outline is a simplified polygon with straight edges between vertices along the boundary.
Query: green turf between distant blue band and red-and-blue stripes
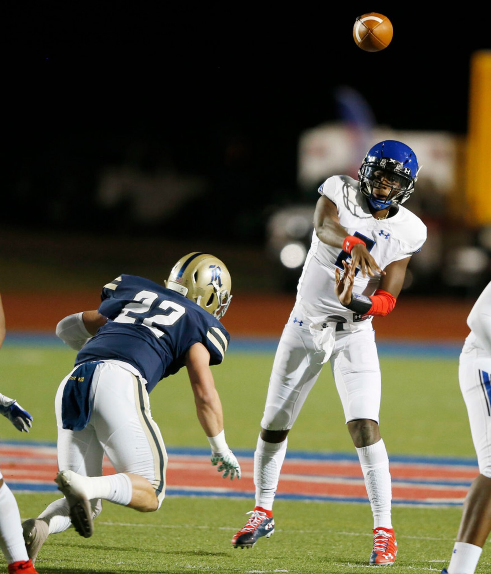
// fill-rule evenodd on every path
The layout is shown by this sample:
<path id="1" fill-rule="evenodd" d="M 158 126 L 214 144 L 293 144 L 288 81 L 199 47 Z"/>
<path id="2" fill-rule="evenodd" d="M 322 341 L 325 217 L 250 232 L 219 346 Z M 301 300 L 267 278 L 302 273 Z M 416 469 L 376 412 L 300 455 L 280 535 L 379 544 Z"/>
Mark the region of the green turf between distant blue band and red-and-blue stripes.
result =
<path id="1" fill-rule="evenodd" d="M 35 418 L 29 438 L 56 440 L 54 394 L 74 358 L 75 353 L 63 348 L 7 346 L 0 353 L 0 390 L 17 398 Z M 229 354 L 213 367 L 232 448 L 255 447 L 271 364 L 270 355 Z M 474 455 L 456 360 L 382 358 L 381 370 L 380 428 L 390 453 Z M 159 383 L 150 402 L 167 445 L 208 444 L 185 369 Z M 10 425 L 2 425 L 0 436 L 21 438 Z M 290 433 L 289 448 L 353 450 L 328 364 Z"/>

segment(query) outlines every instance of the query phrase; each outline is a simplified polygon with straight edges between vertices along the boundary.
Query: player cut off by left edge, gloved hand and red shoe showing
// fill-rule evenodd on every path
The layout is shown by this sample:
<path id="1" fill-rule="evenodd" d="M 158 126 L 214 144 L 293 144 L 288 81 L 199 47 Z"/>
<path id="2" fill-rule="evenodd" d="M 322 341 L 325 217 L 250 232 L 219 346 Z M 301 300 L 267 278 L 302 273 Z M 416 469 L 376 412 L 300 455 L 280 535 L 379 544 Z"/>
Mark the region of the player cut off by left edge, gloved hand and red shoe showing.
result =
<path id="1" fill-rule="evenodd" d="M 0 297 L 0 347 L 5 338 L 5 315 Z M 0 393 L 0 414 L 21 432 L 29 432 L 32 416 L 13 399 Z M 0 472 L 0 549 L 8 563 L 9 574 L 24 572 L 37 574 L 29 560 L 24 537 L 22 537 L 21 515 L 12 491 L 3 481 Z"/>

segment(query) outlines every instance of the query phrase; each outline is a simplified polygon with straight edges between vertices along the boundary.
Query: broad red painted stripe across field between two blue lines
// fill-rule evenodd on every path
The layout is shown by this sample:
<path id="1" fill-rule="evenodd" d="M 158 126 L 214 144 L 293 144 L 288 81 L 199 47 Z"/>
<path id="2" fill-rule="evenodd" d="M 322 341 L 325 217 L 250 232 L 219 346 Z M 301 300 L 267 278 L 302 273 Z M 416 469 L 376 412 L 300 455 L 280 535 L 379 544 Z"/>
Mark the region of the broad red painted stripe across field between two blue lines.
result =
<path id="1" fill-rule="evenodd" d="M 44 450 L 44 452 L 42 452 Z M 0 449 L 0 468 L 5 479 L 15 482 L 36 482 L 41 484 L 52 484 L 57 472 L 56 454 L 54 448 L 36 449 L 24 448 L 13 450 Z M 3 462 L 2 462 L 3 457 Z M 7 460 L 5 460 L 5 458 Z M 32 463 L 29 463 L 32 460 Z M 46 462 L 41 462 L 46 461 Z M 167 467 L 167 484 L 172 488 L 226 488 L 235 492 L 250 492 L 254 494 L 255 487 L 252 480 L 252 460 L 246 460 L 242 464 L 243 478 L 240 481 L 231 482 L 222 479 L 216 468 L 211 467 L 206 456 L 177 456 L 169 462 Z M 114 474 L 108 460 L 104 461 L 103 474 Z M 394 464 L 391 468 L 394 478 L 399 479 L 454 479 L 469 480 L 478 474 L 476 468 L 462 467 L 431 467 L 427 464 Z M 367 494 L 363 483 L 363 475 L 357 463 L 339 463 L 330 461 L 318 461 L 312 463 L 308 461 L 294 461 L 285 463 L 282 470 L 283 480 L 280 479 L 279 493 L 301 494 L 310 496 L 332 496 L 332 497 L 353 497 L 366 498 Z M 291 476 L 291 480 L 288 479 Z M 294 476 L 292 476 L 294 475 Z M 309 476 L 313 478 L 324 477 L 325 480 L 310 482 Z M 342 482 L 342 477 L 358 478 L 354 482 Z M 332 482 L 329 480 L 332 478 Z M 392 484 L 394 499 L 416 499 L 424 501 L 431 499 L 461 501 L 467 488 L 448 486 L 427 487 L 424 484 L 404 485 Z"/>

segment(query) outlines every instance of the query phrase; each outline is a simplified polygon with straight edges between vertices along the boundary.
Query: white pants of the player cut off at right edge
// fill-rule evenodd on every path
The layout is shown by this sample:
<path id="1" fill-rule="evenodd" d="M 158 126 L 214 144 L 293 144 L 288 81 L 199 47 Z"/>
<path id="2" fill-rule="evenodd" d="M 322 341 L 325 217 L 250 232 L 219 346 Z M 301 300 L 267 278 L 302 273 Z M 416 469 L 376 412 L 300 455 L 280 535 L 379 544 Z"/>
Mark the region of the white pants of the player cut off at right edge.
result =
<path id="1" fill-rule="evenodd" d="M 469 414 L 479 471 L 491 478 L 491 357 L 465 346 L 459 357 L 459 384 Z"/>

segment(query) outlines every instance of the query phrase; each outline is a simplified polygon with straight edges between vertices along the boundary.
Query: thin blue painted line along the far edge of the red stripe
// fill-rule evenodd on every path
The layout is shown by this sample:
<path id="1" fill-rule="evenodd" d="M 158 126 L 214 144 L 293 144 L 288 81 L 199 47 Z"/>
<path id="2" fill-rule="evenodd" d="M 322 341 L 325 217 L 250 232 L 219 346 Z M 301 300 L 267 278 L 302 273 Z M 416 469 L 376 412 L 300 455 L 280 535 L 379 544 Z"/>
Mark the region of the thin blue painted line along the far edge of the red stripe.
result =
<path id="1" fill-rule="evenodd" d="M 21 440 L 0 440 L 1 445 L 12 445 L 16 447 L 53 447 L 56 443 L 21 441 Z M 167 453 L 177 456 L 209 456 L 208 448 L 201 447 L 166 447 Z M 234 449 L 236 456 L 252 459 L 254 451 L 251 449 Z M 309 452 L 309 451 L 287 451 L 287 460 L 313 460 L 313 461 L 339 461 L 358 463 L 358 456 L 350 452 Z M 421 456 L 421 455 L 390 455 L 391 463 L 402 464 L 430 464 L 437 466 L 465 466 L 477 467 L 477 460 L 474 458 L 449 457 L 449 456 Z"/>

